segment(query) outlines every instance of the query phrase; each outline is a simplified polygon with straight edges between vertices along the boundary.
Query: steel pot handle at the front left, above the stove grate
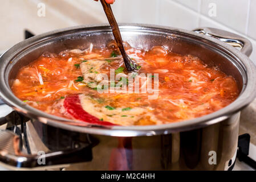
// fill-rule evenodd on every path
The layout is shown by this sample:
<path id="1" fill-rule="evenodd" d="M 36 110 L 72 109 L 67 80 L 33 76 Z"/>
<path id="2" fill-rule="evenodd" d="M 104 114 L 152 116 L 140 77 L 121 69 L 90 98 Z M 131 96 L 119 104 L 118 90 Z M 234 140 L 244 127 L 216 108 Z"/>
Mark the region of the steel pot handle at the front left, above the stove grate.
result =
<path id="1" fill-rule="evenodd" d="M 11 131 L 0 130 L 0 162 L 7 167 L 19 168 L 46 168 L 64 164 L 90 162 L 92 160 L 92 145 L 84 144 L 79 148 L 39 152 L 38 155 L 26 155 L 19 150 L 19 137 Z"/>

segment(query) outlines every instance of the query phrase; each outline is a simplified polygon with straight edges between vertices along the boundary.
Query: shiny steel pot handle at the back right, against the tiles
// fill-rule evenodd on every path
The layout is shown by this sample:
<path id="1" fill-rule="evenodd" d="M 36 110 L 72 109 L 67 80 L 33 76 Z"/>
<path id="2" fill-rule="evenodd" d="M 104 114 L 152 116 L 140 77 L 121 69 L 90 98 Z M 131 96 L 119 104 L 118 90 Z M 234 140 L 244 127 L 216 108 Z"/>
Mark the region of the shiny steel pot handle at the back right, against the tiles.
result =
<path id="1" fill-rule="evenodd" d="M 210 27 L 197 28 L 193 31 L 197 32 L 198 34 L 204 34 L 221 40 L 222 42 L 225 42 L 235 48 L 241 48 L 240 51 L 248 57 L 251 55 L 251 52 L 253 52 L 253 46 L 250 40 L 240 35 Z"/>

